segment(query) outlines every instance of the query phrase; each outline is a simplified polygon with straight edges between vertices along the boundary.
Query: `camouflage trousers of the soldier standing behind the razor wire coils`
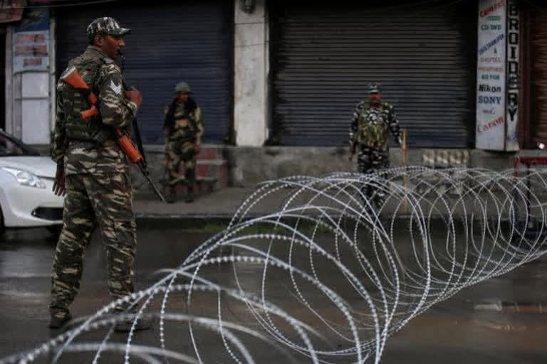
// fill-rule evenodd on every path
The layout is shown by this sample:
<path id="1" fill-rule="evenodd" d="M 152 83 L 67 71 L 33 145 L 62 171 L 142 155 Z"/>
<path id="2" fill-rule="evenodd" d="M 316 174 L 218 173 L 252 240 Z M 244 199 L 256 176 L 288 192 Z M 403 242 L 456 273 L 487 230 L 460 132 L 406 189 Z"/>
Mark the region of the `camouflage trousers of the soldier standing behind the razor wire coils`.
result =
<path id="1" fill-rule="evenodd" d="M 386 149 L 375 149 L 359 145 L 358 155 L 358 171 L 360 173 L 374 173 L 383 168 L 390 167 L 390 154 Z M 363 187 L 362 192 L 370 200 L 370 203 L 374 203 L 377 207 L 380 207 L 385 200 L 385 188 L 379 188 L 380 186 L 375 181 L 370 181 Z"/>

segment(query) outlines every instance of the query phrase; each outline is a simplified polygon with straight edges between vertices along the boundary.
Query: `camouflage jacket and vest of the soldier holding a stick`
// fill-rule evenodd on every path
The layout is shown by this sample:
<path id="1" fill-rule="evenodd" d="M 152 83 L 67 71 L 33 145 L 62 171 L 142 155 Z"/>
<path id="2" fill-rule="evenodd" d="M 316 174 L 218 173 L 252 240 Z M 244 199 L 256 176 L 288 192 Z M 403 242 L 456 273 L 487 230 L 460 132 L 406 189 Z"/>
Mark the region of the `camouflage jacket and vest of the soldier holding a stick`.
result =
<path id="1" fill-rule="evenodd" d="M 389 148 L 388 131 L 401 144 L 401 130 L 397 114 L 392 105 L 380 102 L 370 105 L 368 100 L 358 103 L 350 124 L 350 144 L 358 142 L 370 148 L 386 151 Z"/>

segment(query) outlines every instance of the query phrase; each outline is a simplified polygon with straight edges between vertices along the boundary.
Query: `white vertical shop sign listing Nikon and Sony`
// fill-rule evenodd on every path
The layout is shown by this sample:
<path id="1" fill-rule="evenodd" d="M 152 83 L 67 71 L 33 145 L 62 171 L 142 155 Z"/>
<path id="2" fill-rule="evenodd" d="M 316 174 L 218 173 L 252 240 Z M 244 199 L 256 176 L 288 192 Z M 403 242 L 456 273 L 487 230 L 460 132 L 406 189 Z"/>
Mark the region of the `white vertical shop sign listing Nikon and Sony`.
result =
<path id="1" fill-rule="evenodd" d="M 505 149 L 506 0 L 479 0 L 476 148 Z"/>

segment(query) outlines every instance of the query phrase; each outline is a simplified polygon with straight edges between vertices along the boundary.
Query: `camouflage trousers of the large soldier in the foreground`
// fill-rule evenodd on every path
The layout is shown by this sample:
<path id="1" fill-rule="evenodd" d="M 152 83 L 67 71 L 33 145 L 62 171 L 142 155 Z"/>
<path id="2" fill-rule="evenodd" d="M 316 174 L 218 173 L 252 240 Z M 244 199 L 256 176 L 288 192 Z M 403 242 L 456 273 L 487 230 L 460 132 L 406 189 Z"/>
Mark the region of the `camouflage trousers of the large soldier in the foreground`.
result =
<path id="1" fill-rule="evenodd" d="M 62 319 L 80 289 L 83 257 L 98 225 L 106 250 L 108 289 L 112 299 L 135 290 L 137 245 L 132 189 L 128 172 L 109 176 L 71 174 L 66 176 L 63 230 L 59 237 L 51 275 L 50 312 Z M 119 305 L 115 312 L 125 311 Z"/>

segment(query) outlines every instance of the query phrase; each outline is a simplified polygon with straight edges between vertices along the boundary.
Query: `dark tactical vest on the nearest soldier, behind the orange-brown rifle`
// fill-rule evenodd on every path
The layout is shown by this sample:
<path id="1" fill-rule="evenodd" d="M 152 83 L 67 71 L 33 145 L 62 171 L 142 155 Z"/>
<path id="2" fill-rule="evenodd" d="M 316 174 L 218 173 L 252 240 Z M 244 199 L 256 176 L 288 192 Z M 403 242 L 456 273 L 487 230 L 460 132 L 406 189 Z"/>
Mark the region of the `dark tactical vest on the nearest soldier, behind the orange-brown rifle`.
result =
<path id="1" fill-rule="evenodd" d="M 82 75 L 85 83 L 95 95 L 98 95 L 95 84 L 98 81 L 100 68 L 105 65 L 103 58 L 86 58 L 83 55 L 71 61 L 68 68 L 74 65 Z M 100 114 L 89 119 L 81 119 L 80 111 L 89 109 L 92 105 L 88 102 L 83 92 L 61 82 L 61 95 L 63 97 L 63 110 L 65 112 L 65 129 L 68 141 L 95 141 L 103 143 L 108 139 L 114 139 L 112 128 L 103 124 Z"/>

